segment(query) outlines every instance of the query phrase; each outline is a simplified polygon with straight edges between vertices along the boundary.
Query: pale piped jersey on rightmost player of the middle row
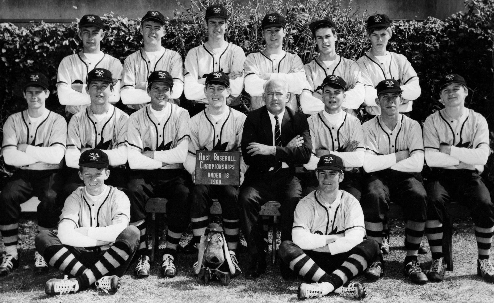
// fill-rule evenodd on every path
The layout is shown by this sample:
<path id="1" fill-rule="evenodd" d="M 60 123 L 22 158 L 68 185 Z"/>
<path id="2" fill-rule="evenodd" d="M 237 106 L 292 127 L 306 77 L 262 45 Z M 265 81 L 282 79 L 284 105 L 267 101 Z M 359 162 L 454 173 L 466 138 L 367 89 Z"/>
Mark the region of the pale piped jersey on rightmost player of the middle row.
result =
<path id="1" fill-rule="evenodd" d="M 441 144 L 451 146 L 450 155 L 439 152 Z M 448 115 L 446 109 L 436 111 L 425 119 L 424 149 L 431 167 L 482 173 L 490 153 L 486 118 L 468 108 L 464 108 L 459 120 Z"/>

